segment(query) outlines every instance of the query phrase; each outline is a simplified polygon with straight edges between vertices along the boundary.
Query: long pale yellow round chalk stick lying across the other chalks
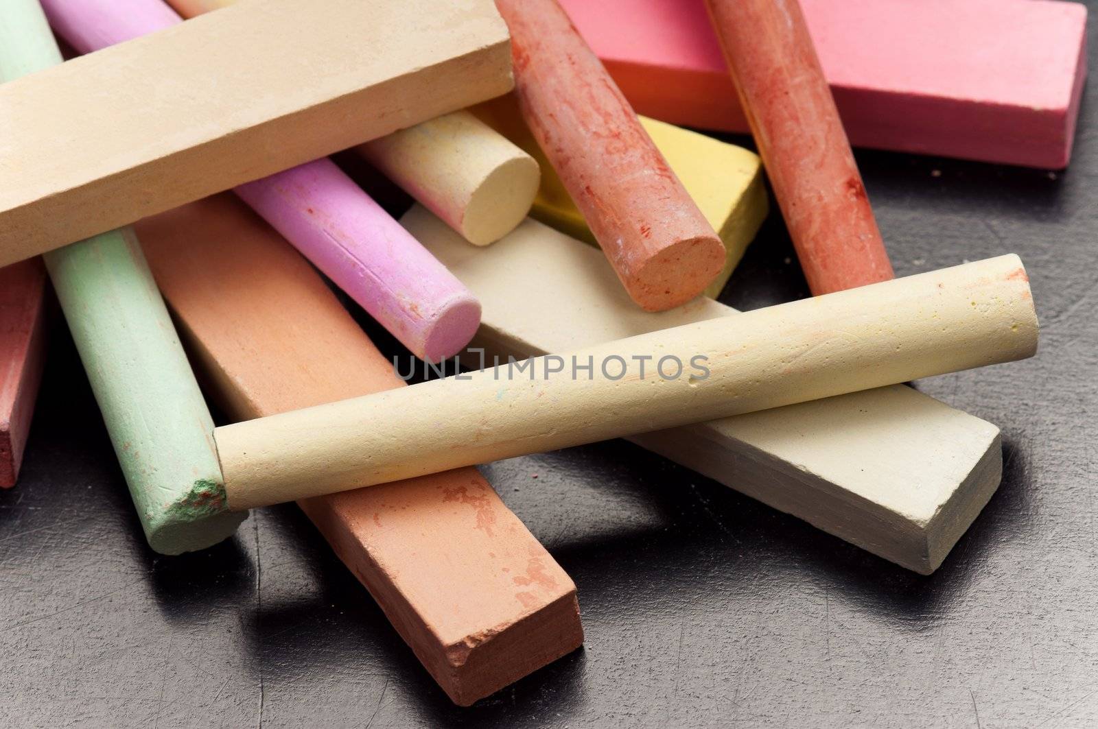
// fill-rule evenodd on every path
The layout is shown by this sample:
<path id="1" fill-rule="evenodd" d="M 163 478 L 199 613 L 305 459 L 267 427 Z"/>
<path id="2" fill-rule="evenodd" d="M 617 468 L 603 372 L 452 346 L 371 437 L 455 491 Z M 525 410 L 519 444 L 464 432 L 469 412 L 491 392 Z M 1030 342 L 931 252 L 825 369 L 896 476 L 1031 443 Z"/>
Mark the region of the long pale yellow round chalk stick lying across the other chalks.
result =
<path id="1" fill-rule="evenodd" d="M 1010 255 L 561 361 L 537 357 L 527 360 L 533 377 L 504 365 L 227 425 L 214 437 L 228 506 L 244 509 L 1023 359 L 1037 339 L 1026 271 Z M 677 378 L 669 357 L 683 363 Z M 615 379 L 621 362 L 626 374 Z M 547 378 L 558 366 L 563 372 Z"/>

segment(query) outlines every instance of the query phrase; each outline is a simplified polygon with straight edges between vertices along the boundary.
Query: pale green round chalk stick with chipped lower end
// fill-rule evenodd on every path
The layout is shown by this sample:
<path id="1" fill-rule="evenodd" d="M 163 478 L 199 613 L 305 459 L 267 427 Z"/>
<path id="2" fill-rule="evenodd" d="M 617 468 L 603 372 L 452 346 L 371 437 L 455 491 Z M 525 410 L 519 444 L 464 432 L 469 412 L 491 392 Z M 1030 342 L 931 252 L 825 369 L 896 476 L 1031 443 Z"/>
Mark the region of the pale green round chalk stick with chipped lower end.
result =
<path id="1" fill-rule="evenodd" d="M 37 0 L 5 0 L 0 80 L 61 63 Z M 44 257 L 148 543 L 178 554 L 231 536 L 213 419 L 128 227 Z"/>

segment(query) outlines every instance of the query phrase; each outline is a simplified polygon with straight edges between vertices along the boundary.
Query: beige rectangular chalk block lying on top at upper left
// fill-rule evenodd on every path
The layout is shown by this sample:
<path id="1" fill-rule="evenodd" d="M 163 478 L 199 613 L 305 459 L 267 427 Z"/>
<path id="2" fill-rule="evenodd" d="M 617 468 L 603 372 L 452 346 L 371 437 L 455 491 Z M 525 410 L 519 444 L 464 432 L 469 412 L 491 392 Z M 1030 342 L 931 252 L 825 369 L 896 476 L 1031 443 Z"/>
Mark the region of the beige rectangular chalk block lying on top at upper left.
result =
<path id="1" fill-rule="evenodd" d="M 0 88 L 0 265 L 511 86 L 474 0 L 245 2 L 76 58 Z"/>

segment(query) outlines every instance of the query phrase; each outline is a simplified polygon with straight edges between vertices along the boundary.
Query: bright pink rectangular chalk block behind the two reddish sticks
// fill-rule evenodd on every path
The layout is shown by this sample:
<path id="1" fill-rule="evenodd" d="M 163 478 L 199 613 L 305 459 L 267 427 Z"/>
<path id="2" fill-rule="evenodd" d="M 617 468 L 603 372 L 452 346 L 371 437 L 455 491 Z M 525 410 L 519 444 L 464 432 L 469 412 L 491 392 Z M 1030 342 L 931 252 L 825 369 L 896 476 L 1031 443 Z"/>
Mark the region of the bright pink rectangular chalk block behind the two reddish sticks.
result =
<path id="1" fill-rule="evenodd" d="M 704 0 L 561 0 L 641 114 L 747 132 Z M 804 0 L 858 146 L 1058 169 L 1086 77 L 1083 4 Z"/>

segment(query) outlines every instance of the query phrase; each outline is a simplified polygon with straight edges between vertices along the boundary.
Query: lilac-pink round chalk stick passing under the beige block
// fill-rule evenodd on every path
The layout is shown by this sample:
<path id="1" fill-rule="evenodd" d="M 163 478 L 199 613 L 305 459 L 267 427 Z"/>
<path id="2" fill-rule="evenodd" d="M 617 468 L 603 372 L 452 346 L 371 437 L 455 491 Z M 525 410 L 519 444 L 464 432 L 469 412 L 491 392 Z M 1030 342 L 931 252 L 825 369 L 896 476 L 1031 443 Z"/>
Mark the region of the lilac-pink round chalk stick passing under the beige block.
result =
<path id="1" fill-rule="evenodd" d="M 42 5 L 54 30 L 80 53 L 182 22 L 161 0 Z M 437 362 L 472 339 L 480 302 L 330 160 L 235 192 L 417 357 Z"/>

